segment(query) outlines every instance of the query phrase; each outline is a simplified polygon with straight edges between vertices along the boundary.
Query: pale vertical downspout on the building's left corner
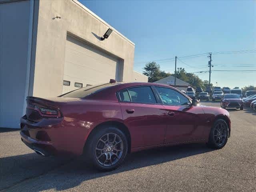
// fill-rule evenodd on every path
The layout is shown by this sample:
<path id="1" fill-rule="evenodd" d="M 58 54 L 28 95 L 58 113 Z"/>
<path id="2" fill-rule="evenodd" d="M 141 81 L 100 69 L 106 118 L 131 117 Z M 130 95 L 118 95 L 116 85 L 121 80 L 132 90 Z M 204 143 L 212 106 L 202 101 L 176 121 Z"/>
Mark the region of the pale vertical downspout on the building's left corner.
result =
<path id="1" fill-rule="evenodd" d="M 32 52 L 33 20 L 34 20 L 34 0 L 30 0 L 27 71 L 26 71 L 26 87 L 25 87 L 25 94 L 24 94 L 23 114 L 26 113 L 26 97 L 28 96 L 29 84 L 30 84 L 30 66 L 31 66 L 31 52 Z"/>

